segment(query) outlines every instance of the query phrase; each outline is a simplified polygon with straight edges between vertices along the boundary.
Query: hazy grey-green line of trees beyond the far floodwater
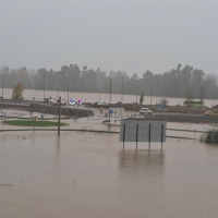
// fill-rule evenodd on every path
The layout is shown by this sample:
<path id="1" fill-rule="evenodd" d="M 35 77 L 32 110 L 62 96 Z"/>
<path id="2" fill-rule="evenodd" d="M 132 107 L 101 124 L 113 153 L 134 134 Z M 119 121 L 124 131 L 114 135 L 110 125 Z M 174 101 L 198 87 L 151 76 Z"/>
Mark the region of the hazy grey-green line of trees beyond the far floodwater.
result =
<path id="1" fill-rule="evenodd" d="M 111 77 L 111 78 L 110 78 Z M 24 89 L 68 90 L 84 93 L 110 93 L 110 80 L 112 94 L 126 94 L 162 97 L 183 97 L 192 95 L 192 98 L 218 98 L 217 76 L 206 74 L 203 70 L 178 64 L 162 74 L 145 71 L 142 77 L 136 73 L 129 75 L 125 71 L 106 72 L 99 68 L 80 68 L 77 64 L 62 65 L 60 71 L 38 69 L 38 71 L 9 69 L 0 72 L 0 87 L 13 88 L 22 83 Z"/>

